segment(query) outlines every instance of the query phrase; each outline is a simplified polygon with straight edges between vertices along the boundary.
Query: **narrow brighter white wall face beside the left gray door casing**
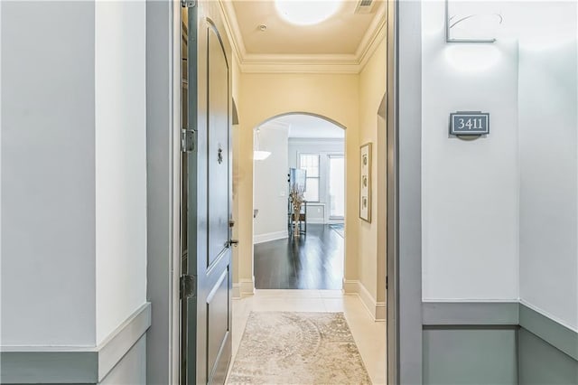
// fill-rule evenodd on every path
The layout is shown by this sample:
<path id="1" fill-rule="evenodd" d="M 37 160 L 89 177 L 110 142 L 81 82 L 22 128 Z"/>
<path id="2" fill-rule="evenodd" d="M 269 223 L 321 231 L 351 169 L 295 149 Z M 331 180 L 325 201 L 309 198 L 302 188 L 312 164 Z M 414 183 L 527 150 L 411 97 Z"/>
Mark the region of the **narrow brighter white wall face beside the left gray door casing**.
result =
<path id="1" fill-rule="evenodd" d="M 96 4 L 97 343 L 146 300 L 145 22 Z"/>

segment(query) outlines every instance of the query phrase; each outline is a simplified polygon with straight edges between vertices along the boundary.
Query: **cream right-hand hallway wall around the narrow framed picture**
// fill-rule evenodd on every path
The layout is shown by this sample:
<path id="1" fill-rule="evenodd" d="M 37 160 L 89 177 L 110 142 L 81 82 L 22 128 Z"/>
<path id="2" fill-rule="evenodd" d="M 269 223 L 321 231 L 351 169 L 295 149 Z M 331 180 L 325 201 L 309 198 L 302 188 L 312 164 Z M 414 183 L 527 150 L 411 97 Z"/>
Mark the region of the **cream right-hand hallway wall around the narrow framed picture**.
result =
<path id="1" fill-rule="evenodd" d="M 383 172 L 386 160 L 386 132 L 383 126 L 385 122 L 382 120 L 378 125 L 378 109 L 386 93 L 386 55 L 384 39 L 359 74 L 359 145 L 372 143 L 373 155 L 371 159 L 371 223 L 359 220 L 359 256 L 361 256 L 359 258 L 359 282 L 376 302 L 385 302 L 386 297 L 384 278 L 386 277 L 386 221 L 384 221 L 386 212 L 384 209 L 387 204 L 378 204 L 386 203 L 384 188 L 386 174 Z M 378 237 L 379 234 L 382 236 Z"/>

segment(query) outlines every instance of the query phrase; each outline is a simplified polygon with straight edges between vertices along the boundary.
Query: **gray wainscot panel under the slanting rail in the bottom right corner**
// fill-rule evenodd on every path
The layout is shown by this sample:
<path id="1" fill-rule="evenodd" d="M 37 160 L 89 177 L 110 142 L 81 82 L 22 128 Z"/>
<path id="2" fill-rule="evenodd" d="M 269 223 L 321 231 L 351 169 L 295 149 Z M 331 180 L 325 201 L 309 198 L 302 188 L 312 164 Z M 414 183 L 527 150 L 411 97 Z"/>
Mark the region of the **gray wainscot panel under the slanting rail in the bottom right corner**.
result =
<path id="1" fill-rule="evenodd" d="M 578 384 L 578 362 L 533 333 L 518 332 L 519 375 L 523 385 Z"/>

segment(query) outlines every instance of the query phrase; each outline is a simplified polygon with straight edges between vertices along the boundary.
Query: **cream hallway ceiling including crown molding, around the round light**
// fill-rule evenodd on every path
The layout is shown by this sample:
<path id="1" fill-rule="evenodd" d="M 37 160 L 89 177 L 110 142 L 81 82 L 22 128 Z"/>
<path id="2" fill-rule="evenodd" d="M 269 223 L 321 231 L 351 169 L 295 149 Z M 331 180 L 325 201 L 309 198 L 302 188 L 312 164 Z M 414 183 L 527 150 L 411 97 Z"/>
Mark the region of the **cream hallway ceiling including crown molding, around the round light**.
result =
<path id="1" fill-rule="evenodd" d="M 303 3 L 323 1 L 327 0 Z M 386 6 L 383 0 L 373 0 L 370 13 L 364 14 L 356 13 L 358 4 L 342 0 L 322 23 L 296 25 L 277 13 L 274 0 L 221 0 L 245 72 L 359 72 L 385 36 Z M 260 25 L 266 25 L 265 31 Z"/>

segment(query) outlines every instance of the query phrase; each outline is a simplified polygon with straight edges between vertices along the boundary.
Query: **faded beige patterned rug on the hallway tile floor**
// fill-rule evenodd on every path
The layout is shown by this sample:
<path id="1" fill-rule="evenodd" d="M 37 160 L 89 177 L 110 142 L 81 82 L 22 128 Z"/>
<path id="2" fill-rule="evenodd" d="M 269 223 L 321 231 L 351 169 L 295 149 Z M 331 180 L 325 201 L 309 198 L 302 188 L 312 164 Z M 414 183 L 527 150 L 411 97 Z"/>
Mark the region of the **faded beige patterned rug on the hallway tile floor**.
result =
<path id="1" fill-rule="evenodd" d="M 228 384 L 370 384 L 342 313 L 251 312 Z"/>

